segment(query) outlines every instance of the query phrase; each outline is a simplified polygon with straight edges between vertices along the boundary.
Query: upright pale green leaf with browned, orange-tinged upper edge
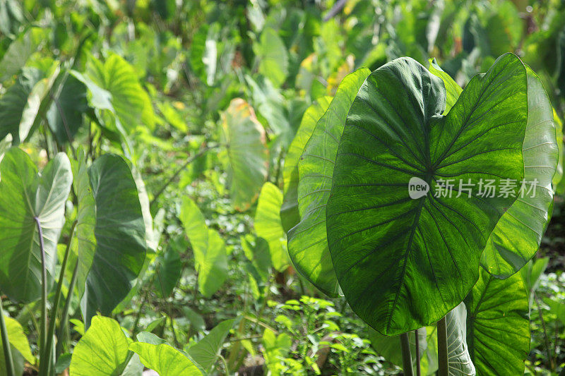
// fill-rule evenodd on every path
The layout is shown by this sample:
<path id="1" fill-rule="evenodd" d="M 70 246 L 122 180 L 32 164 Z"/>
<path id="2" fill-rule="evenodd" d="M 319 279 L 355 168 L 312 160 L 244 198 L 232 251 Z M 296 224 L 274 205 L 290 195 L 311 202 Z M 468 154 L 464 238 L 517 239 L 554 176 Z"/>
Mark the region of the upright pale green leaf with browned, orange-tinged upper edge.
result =
<path id="1" fill-rule="evenodd" d="M 267 178 L 268 150 L 263 126 L 243 99 L 236 98 L 222 114 L 223 139 L 230 162 L 230 193 L 234 207 L 251 206 Z"/>

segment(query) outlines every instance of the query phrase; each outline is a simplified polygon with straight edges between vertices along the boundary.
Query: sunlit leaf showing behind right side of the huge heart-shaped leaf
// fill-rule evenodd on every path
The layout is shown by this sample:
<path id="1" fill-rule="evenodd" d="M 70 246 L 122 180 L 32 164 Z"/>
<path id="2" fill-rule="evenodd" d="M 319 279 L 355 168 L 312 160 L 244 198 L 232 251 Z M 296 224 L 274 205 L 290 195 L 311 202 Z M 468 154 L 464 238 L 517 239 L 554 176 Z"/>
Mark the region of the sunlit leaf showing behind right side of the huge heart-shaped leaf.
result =
<path id="1" fill-rule="evenodd" d="M 552 178 L 559 159 L 553 109 L 540 79 L 530 68 L 528 126 L 522 152 L 523 193 L 496 224 L 481 258 L 482 266 L 499 278 L 518 272 L 537 252 L 553 209 Z"/>

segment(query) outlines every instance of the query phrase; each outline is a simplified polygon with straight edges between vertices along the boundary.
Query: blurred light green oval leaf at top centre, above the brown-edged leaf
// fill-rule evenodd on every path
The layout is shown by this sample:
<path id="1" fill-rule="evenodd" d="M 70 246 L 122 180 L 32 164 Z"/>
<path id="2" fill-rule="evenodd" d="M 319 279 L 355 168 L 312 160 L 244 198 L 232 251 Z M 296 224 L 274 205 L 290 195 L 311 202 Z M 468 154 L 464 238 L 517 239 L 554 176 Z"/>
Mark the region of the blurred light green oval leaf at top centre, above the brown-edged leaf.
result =
<path id="1" fill-rule="evenodd" d="M 273 85 L 279 87 L 285 83 L 288 74 L 288 53 L 285 43 L 272 28 L 261 32 L 257 44 L 259 56 L 259 73 L 268 78 Z"/>

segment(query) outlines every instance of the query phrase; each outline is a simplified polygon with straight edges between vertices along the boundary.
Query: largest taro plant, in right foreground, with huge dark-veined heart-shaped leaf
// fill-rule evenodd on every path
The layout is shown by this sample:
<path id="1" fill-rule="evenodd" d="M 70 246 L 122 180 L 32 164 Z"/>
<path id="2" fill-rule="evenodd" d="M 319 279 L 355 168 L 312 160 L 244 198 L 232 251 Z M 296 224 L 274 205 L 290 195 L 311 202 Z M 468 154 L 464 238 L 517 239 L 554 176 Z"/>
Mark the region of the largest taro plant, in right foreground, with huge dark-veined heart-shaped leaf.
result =
<path id="1" fill-rule="evenodd" d="M 408 332 L 435 326 L 439 375 L 523 372 L 528 294 L 516 272 L 549 222 L 558 159 L 537 75 L 504 54 L 462 90 L 435 61 L 400 58 L 351 73 L 309 111 L 285 188 L 299 210 L 297 270 L 400 335 L 406 375 Z"/>

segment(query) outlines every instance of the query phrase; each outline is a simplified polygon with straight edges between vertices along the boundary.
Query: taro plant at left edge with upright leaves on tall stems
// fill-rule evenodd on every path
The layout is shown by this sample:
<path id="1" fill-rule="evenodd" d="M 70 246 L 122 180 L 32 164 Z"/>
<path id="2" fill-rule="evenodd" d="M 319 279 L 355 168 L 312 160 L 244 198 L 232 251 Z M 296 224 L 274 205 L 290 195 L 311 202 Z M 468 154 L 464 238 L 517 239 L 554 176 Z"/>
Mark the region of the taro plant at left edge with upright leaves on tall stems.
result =
<path id="1" fill-rule="evenodd" d="M 57 154 L 38 172 L 28 154 L 11 147 L 0 176 L 0 291 L 16 303 L 39 302 L 39 363 L 25 358 L 40 375 L 54 375 L 56 364 L 69 359 L 65 333 L 73 296 L 89 327 L 96 313 L 109 315 L 126 298 L 143 266 L 145 224 L 136 182 L 123 158 L 105 154 L 87 167 L 82 149 L 76 159 Z M 64 226 L 69 233 L 58 253 Z M 11 376 L 29 349 L 16 345 L 19 336 L 6 329 L 10 321 L 4 322 L 1 310 L 0 302 L 3 358 Z"/>

